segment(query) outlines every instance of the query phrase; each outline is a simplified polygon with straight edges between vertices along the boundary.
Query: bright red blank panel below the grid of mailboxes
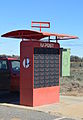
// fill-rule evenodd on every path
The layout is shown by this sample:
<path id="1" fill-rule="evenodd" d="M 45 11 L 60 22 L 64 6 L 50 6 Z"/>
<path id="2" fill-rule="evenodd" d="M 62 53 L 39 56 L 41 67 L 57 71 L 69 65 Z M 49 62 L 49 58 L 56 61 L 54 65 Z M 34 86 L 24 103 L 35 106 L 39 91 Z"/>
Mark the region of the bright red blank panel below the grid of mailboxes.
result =
<path id="1" fill-rule="evenodd" d="M 33 90 L 33 106 L 59 102 L 60 86 L 38 88 Z"/>

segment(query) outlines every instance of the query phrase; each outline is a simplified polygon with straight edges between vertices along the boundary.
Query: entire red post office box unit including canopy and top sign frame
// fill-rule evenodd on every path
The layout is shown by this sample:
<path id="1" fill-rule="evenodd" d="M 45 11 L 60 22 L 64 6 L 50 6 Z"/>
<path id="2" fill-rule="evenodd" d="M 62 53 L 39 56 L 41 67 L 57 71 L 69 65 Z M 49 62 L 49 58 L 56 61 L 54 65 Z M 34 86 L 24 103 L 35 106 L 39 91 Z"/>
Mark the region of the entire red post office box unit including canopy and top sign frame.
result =
<path id="1" fill-rule="evenodd" d="M 33 26 L 34 23 L 40 26 Z M 32 22 L 32 27 L 40 28 L 40 31 L 16 30 L 2 35 L 2 37 L 22 39 L 20 43 L 20 104 L 38 106 L 59 102 L 60 45 L 58 40 L 78 37 L 41 32 L 41 28 L 50 27 L 49 22 Z M 54 39 L 51 39 L 51 36 L 54 36 Z M 46 41 L 44 38 L 47 37 Z M 53 42 L 50 42 L 51 40 Z"/>

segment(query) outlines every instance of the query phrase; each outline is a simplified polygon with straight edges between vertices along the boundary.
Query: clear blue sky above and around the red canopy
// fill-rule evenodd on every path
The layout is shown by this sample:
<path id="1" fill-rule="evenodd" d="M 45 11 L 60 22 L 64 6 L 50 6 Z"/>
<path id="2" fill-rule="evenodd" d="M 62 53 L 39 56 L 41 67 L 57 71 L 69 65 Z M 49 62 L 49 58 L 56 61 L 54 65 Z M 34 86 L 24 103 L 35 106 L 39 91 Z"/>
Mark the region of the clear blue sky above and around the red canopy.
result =
<path id="1" fill-rule="evenodd" d="M 31 21 L 50 21 L 44 31 L 76 35 L 61 41 L 71 55 L 83 57 L 83 0 L 0 0 L 0 36 L 17 29 L 31 29 Z M 20 40 L 0 37 L 0 54 L 19 55 Z"/>

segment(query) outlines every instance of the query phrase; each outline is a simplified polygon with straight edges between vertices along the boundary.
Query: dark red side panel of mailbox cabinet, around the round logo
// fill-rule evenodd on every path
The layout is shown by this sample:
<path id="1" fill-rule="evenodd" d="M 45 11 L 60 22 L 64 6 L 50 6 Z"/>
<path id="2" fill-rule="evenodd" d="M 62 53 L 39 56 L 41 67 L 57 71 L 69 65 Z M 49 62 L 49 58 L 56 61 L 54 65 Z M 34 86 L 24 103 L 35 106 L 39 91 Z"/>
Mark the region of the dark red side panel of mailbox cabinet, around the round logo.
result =
<path id="1" fill-rule="evenodd" d="M 33 48 L 23 45 L 20 50 L 20 104 L 32 106 L 33 104 Z M 23 60 L 29 57 L 30 67 L 23 67 Z"/>

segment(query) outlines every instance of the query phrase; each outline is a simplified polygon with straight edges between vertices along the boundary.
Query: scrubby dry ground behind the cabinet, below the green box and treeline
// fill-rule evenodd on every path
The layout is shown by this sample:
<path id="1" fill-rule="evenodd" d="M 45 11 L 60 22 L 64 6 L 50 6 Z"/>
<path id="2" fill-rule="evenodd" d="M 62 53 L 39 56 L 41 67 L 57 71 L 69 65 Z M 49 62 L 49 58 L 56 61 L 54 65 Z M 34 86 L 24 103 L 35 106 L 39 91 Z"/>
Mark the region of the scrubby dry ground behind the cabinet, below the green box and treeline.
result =
<path id="1" fill-rule="evenodd" d="M 60 79 L 60 93 L 69 96 L 83 96 L 83 62 L 71 63 L 70 76 Z"/>

